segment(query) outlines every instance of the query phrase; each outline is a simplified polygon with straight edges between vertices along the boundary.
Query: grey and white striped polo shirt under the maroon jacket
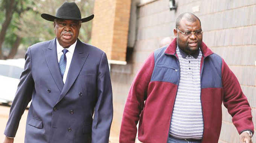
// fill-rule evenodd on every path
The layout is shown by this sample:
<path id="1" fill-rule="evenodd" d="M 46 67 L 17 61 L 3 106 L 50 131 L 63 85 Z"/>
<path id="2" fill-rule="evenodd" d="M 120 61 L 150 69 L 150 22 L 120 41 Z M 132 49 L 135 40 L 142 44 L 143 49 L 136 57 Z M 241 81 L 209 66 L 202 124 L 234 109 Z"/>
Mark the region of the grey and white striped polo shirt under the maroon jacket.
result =
<path id="1" fill-rule="evenodd" d="M 172 111 L 170 135 L 181 139 L 203 138 L 199 48 L 193 56 L 176 49 L 180 62 L 180 83 Z"/>

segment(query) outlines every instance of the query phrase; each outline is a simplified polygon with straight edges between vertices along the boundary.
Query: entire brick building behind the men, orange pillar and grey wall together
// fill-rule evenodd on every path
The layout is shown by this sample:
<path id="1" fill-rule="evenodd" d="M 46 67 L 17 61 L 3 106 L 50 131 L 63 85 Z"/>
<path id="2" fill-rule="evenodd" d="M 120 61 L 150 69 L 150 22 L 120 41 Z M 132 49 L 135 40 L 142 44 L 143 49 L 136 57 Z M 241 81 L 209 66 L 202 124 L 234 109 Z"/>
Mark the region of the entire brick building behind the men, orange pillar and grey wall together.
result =
<path id="1" fill-rule="evenodd" d="M 134 76 L 161 39 L 174 37 L 175 20 L 183 12 L 200 18 L 204 43 L 235 73 L 256 123 L 256 1 L 177 0 L 176 5 L 177 9 L 170 11 L 169 0 L 95 0 L 91 44 L 103 49 L 110 59 L 112 135 L 119 134 Z M 223 106 L 219 143 L 238 143 L 238 139 L 232 117 Z"/>

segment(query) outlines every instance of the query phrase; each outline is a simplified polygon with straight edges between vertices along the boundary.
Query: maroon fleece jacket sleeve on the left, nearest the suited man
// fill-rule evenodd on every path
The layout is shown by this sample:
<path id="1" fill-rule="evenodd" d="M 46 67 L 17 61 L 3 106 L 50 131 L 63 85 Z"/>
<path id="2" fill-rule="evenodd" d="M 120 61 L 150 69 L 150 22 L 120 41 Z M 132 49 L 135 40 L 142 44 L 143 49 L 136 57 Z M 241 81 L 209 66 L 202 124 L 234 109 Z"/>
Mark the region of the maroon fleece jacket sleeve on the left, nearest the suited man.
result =
<path id="1" fill-rule="evenodd" d="M 120 128 L 120 143 L 135 142 L 137 133 L 136 125 L 144 107 L 144 100 L 147 96 L 148 84 L 150 82 L 153 69 L 154 53 L 151 53 L 138 71 L 128 93 Z"/>

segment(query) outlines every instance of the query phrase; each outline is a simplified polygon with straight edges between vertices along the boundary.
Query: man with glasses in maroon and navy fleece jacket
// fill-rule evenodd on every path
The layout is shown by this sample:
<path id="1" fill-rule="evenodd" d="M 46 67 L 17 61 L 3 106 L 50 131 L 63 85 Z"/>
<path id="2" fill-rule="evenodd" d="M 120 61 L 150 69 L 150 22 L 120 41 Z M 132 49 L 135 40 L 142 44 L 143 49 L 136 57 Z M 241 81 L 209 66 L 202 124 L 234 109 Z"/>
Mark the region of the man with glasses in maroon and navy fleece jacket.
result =
<path id="1" fill-rule="evenodd" d="M 155 50 L 137 73 L 126 101 L 120 143 L 217 143 L 221 104 L 241 143 L 252 143 L 251 108 L 226 62 L 202 42 L 201 22 L 181 14 L 169 46 Z"/>

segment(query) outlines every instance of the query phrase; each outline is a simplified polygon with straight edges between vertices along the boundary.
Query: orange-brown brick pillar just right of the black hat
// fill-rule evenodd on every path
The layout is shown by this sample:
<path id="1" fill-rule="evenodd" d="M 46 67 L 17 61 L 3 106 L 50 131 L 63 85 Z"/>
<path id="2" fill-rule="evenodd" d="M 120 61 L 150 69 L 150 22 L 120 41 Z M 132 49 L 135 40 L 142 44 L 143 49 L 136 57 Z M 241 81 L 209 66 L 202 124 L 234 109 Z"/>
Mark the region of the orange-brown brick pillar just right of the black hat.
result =
<path id="1" fill-rule="evenodd" d="M 131 0 L 95 0 L 91 44 L 125 61 Z"/>

